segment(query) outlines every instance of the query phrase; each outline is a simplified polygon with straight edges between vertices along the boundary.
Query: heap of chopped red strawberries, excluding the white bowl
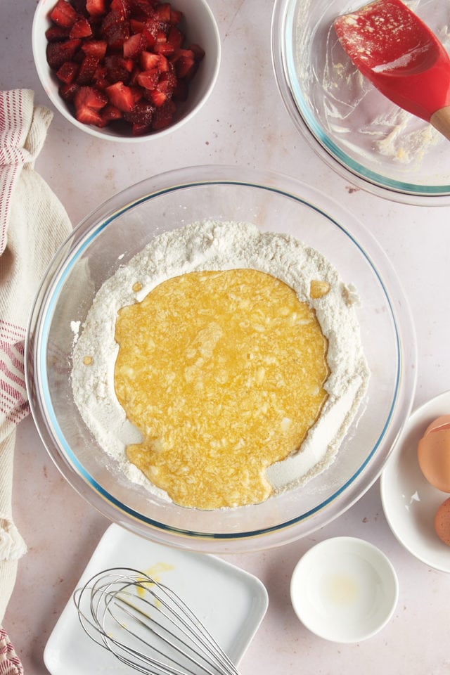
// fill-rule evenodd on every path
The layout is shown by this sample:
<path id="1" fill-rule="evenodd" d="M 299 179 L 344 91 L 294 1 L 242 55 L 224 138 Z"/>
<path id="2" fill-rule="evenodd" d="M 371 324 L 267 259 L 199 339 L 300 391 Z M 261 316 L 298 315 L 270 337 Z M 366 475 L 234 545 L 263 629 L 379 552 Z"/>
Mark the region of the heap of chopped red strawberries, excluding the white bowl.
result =
<path id="1" fill-rule="evenodd" d="M 46 58 L 79 122 L 149 134 L 176 120 L 205 51 L 159 0 L 56 0 Z"/>

